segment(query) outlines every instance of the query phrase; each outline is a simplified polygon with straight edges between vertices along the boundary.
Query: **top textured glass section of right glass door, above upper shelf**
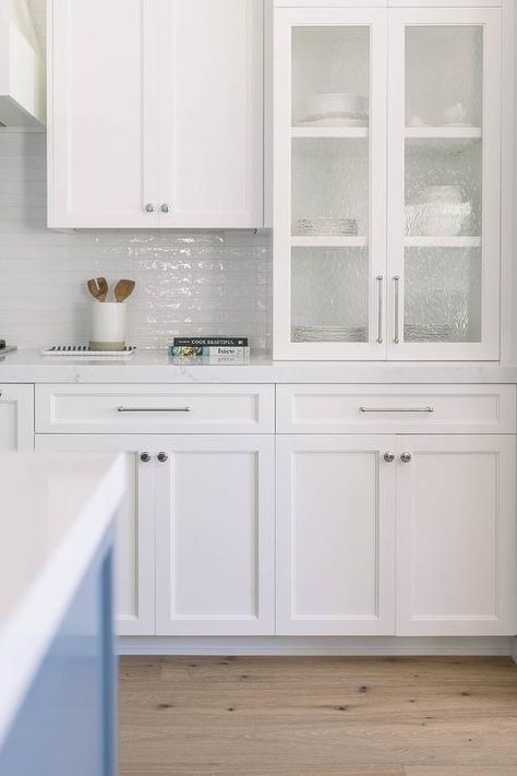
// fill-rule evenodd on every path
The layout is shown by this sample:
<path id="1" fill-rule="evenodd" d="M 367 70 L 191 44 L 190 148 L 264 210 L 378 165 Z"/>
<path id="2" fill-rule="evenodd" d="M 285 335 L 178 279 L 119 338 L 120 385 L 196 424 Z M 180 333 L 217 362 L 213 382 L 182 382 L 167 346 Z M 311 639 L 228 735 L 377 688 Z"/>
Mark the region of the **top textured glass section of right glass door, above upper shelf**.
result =
<path id="1" fill-rule="evenodd" d="M 482 27 L 407 27 L 408 126 L 481 127 L 482 105 Z"/>

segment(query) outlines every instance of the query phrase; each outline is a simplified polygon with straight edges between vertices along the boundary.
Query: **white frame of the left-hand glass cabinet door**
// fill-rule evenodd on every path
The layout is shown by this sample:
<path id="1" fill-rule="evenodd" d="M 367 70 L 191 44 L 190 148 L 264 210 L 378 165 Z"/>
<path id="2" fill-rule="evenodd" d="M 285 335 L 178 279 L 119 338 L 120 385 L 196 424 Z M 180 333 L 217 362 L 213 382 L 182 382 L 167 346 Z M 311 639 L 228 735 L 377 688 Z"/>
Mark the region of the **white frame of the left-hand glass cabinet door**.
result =
<path id="1" fill-rule="evenodd" d="M 291 35 L 293 27 L 335 26 L 370 29 L 370 128 L 369 128 L 369 342 L 291 343 Z M 278 9 L 275 13 L 274 86 L 274 353 L 282 359 L 384 359 L 385 288 L 378 331 L 377 277 L 385 277 L 386 258 L 386 98 L 387 13 L 383 9 Z M 348 130 L 348 136 L 356 130 Z M 361 130 L 362 131 L 362 130 Z M 332 136 L 332 130 L 328 131 Z M 337 134 L 336 134 L 337 136 Z M 347 136 L 342 130 L 339 136 Z M 315 244 L 311 241 L 311 244 Z M 330 244 L 322 238 L 322 244 Z M 340 238 L 340 246 L 357 244 L 357 238 Z"/>

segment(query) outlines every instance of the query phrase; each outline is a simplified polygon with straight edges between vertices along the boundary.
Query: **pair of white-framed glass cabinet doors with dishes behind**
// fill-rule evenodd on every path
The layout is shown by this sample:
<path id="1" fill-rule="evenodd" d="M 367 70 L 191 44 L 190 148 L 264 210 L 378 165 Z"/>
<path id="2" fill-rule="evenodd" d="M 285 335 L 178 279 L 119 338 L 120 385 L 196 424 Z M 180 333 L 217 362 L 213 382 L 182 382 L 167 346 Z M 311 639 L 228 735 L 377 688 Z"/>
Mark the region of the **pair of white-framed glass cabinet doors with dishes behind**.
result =
<path id="1" fill-rule="evenodd" d="M 501 11 L 275 19 L 275 357 L 496 360 Z"/>

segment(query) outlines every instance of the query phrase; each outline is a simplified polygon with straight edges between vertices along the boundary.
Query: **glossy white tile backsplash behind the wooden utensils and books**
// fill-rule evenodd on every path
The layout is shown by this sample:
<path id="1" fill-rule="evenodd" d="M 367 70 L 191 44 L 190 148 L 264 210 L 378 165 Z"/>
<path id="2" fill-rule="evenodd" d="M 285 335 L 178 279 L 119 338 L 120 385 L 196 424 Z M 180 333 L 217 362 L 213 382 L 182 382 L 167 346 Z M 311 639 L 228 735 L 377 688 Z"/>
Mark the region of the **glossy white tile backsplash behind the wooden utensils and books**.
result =
<path id="1" fill-rule="evenodd" d="M 128 341 L 165 347 L 175 334 L 251 336 L 269 349 L 270 234 L 50 231 L 46 138 L 0 130 L 0 336 L 22 347 L 88 338 L 88 277 L 136 280 Z"/>

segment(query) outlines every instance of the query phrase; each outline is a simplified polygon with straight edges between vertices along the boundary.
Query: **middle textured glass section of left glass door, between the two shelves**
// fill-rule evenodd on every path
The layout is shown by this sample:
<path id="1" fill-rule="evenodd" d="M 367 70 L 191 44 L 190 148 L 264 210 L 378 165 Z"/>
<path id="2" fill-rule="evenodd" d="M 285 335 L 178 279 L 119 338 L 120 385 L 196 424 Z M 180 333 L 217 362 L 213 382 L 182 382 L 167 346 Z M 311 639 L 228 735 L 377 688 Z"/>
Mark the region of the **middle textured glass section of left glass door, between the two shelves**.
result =
<path id="1" fill-rule="evenodd" d="M 335 138 L 292 141 L 292 234 L 301 224 L 315 224 L 316 232 L 368 234 L 368 140 Z M 327 219 L 328 223 L 325 222 Z M 353 222 L 357 226 L 353 227 Z"/>

